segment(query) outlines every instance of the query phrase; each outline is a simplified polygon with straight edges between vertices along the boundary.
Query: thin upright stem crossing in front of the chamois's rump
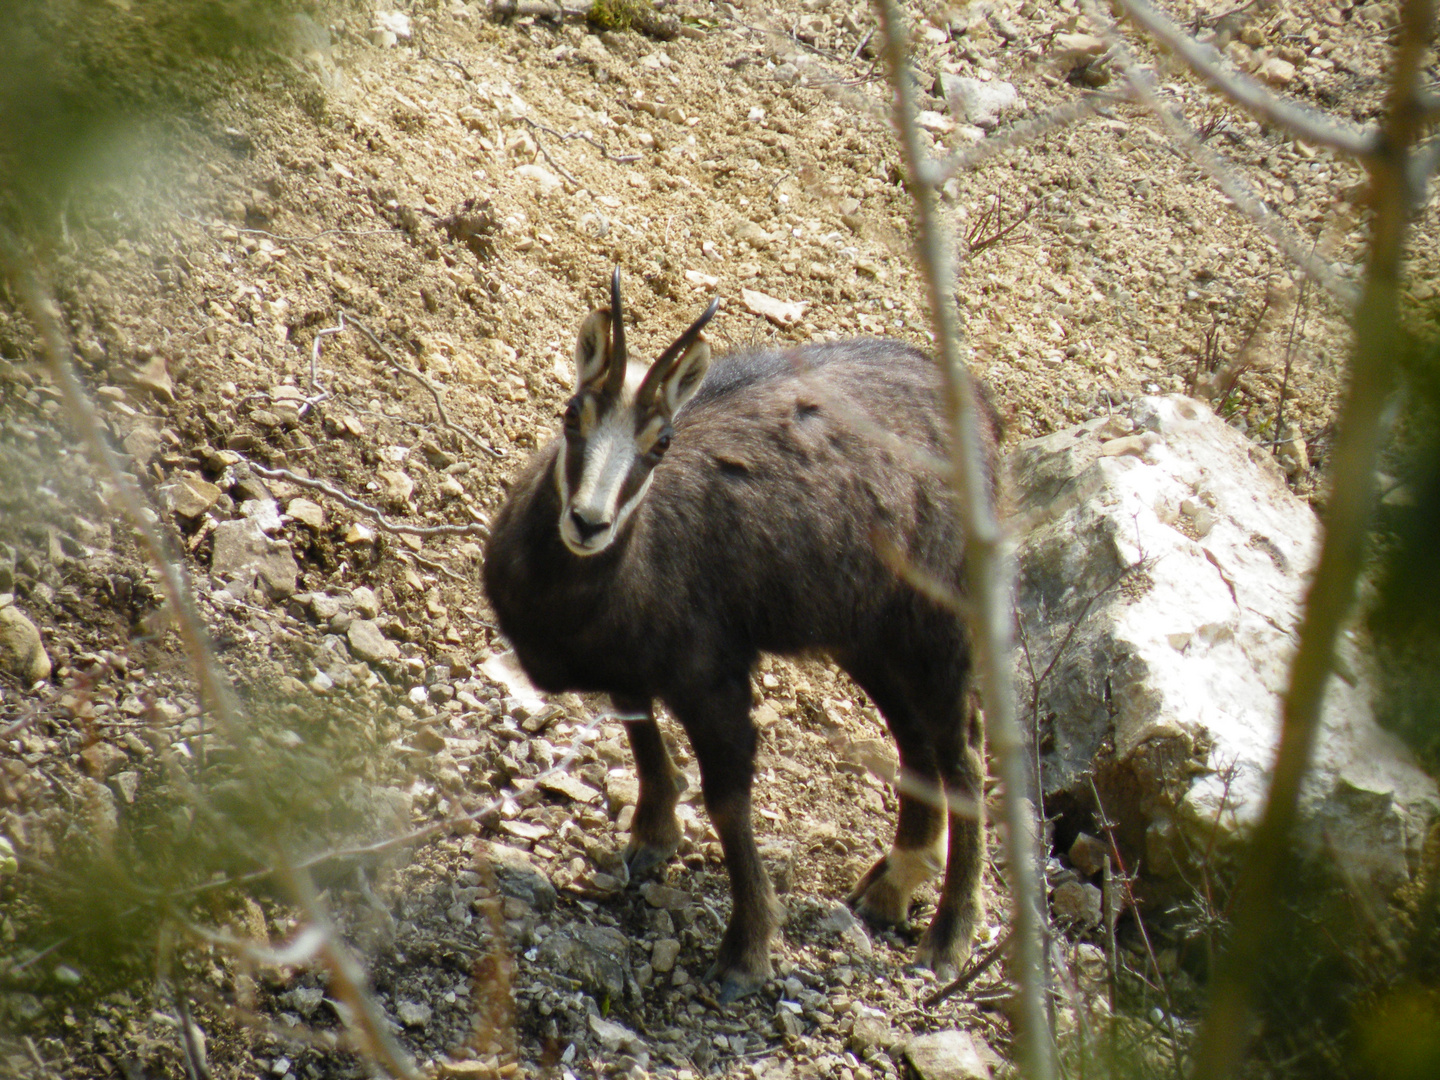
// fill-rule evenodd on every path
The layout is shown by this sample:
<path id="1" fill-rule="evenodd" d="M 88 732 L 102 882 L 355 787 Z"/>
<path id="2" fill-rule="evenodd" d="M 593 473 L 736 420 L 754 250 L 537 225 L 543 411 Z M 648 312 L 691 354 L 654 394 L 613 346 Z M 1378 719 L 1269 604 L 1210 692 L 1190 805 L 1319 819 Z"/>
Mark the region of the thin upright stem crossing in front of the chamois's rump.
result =
<path id="1" fill-rule="evenodd" d="M 1015 971 L 1020 981 L 1020 1063 L 1030 1080 L 1050 1080 L 1054 1058 L 1045 1008 L 1044 958 L 1041 953 L 1041 877 L 1037 873 L 1034 808 L 1025 799 L 1028 765 L 1025 740 L 1015 716 L 1015 687 L 1011 672 L 1012 576 L 1002 552 L 1002 533 L 991 503 L 992 478 L 981 452 L 981 405 L 975 382 L 960 359 L 955 288 L 949 245 L 936 212 L 932 184 L 922 171 L 924 151 L 916 128 L 914 88 L 906 60 L 906 24 L 894 0 L 877 0 L 886 63 L 896 91 L 894 120 L 900 132 L 906 168 L 912 177 L 920 230 L 920 262 L 935 320 L 936 348 L 945 380 L 945 406 L 950 416 L 950 454 L 955 458 L 955 487 L 960 501 L 968 550 L 966 576 L 973 603 L 971 632 L 975 641 L 981 696 L 985 701 L 991 744 L 999 757 L 1005 783 L 1007 863 L 1011 873 L 1015 933 Z"/>

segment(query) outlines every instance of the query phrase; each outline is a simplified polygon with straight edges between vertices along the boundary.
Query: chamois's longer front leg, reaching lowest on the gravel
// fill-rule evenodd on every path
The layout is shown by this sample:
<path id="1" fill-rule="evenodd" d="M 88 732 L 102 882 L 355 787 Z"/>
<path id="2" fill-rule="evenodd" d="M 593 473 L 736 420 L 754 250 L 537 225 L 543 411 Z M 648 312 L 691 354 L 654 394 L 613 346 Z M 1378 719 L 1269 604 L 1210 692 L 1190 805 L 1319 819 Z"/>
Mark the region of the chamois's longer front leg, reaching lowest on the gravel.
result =
<path id="1" fill-rule="evenodd" d="M 750 720 L 747 671 L 665 701 L 690 736 L 710 821 L 720 834 L 730 873 L 730 924 L 706 973 L 720 982 L 720 1004 L 757 991 L 772 975 L 770 937 L 779 904 L 750 828 L 750 785 L 757 733 Z"/>

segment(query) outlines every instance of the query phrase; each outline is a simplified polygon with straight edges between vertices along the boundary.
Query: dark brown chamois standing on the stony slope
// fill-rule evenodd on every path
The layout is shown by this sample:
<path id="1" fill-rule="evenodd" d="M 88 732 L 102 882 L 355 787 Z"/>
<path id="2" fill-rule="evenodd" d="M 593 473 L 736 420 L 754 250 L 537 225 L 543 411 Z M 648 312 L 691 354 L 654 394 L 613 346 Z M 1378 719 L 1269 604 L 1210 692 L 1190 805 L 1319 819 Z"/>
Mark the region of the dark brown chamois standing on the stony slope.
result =
<path id="1" fill-rule="evenodd" d="M 580 327 L 563 433 L 495 516 L 485 590 L 536 685 L 608 693 L 626 717 L 639 775 L 632 876 L 681 838 L 684 778 L 652 703 L 684 727 L 730 874 L 730 923 L 707 976 L 721 1001 L 770 978 L 779 922 L 750 829 L 760 652 L 825 651 L 884 714 L 904 776 L 900 816 L 850 903 L 899 923 L 943 865 L 917 959 L 952 971 L 981 912 L 985 765 L 962 621 L 912 583 L 963 588 L 956 498 L 929 464 L 948 444 L 939 372 L 877 338 L 711 363 L 701 328 L 717 305 L 636 383 L 615 271 L 611 305 Z M 986 425 L 994 478 L 994 416 Z"/>

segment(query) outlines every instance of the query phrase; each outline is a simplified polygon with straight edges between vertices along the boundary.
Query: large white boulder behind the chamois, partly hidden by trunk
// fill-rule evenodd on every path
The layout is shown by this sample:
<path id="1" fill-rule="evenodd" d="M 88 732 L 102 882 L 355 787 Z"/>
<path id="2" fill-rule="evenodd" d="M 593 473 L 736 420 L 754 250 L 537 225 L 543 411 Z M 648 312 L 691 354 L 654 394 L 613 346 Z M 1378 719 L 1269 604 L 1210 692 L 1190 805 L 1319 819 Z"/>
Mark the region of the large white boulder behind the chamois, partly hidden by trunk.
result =
<path id="1" fill-rule="evenodd" d="M 1319 521 L 1263 448 L 1181 396 L 1024 442 L 1005 472 L 1047 809 L 1094 809 L 1093 780 L 1152 881 L 1195 880 L 1264 809 Z M 1375 723 L 1365 664 L 1346 636 L 1302 829 L 1385 896 L 1440 801 Z"/>

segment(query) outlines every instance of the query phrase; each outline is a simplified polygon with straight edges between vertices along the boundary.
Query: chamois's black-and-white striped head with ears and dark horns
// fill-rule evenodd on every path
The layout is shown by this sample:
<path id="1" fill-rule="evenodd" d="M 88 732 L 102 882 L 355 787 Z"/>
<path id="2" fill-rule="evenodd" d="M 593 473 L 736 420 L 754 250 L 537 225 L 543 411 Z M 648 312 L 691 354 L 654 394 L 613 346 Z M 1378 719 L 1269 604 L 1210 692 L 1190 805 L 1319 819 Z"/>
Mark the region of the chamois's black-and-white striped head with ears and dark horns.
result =
<path id="1" fill-rule="evenodd" d="M 644 377 L 629 379 L 621 272 L 611 275 L 611 305 L 580 325 L 575 343 L 575 396 L 564 406 L 564 441 L 554 459 L 560 539 L 575 554 L 599 554 L 645 498 L 670 446 L 671 420 L 700 389 L 710 366 L 701 330 L 720 301 L 660 354 Z"/>

